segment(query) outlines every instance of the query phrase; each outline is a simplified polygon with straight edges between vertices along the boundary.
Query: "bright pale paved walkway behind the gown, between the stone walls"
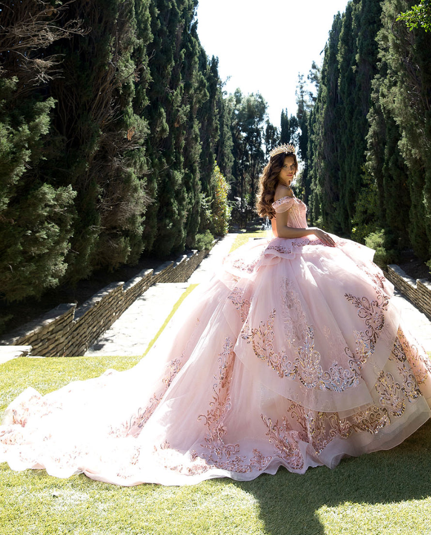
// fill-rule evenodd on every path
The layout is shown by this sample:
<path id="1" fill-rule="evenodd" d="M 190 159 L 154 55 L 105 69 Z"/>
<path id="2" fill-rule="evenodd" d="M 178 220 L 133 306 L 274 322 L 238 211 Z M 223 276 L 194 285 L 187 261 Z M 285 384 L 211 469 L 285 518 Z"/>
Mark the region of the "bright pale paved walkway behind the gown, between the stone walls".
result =
<path id="1" fill-rule="evenodd" d="M 235 237 L 236 234 L 228 234 L 215 244 L 187 282 L 166 282 L 151 286 L 85 355 L 142 355 L 183 292 L 190 284 L 200 284 L 211 277 L 222 258 L 229 252 Z M 406 327 L 427 351 L 431 351 L 430 320 L 401 293 L 396 292 L 394 299 L 402 310 L 402 320 Z"/>

